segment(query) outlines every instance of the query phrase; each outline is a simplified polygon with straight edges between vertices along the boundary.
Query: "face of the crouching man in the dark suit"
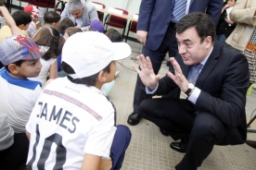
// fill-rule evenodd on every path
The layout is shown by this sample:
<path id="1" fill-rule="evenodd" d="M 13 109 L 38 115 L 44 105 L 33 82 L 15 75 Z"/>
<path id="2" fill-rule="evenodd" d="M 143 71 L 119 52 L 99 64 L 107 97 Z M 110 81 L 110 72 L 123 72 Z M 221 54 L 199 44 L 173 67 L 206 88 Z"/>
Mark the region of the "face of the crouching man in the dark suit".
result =
<path id="1" fill-rule="evenodd" d="M 211 51 L 211 36 L 201 42 L 197 30 L 193 27 L 182 33 L 176 33 L 179 54 L 187 66 L 200 63 Z"/>

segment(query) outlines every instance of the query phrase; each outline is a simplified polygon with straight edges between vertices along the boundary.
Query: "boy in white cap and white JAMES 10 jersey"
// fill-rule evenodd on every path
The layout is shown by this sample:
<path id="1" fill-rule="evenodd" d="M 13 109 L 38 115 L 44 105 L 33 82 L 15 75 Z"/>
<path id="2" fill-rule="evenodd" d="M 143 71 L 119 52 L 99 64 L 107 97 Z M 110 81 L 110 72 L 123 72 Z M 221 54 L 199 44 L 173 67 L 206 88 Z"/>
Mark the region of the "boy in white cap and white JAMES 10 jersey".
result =
<path id="1" fill-rule="evenodd" d="M 131 132 L 115 127 L 116 109 L 100 89 L 114 79 L 115 60 L 130 54 L 127 43 L 110 42 L 96 31 L 75 33 L 65 42 L 67 77 L 46 86 L 26 126 L 31 169 L 121 168 Z"/>

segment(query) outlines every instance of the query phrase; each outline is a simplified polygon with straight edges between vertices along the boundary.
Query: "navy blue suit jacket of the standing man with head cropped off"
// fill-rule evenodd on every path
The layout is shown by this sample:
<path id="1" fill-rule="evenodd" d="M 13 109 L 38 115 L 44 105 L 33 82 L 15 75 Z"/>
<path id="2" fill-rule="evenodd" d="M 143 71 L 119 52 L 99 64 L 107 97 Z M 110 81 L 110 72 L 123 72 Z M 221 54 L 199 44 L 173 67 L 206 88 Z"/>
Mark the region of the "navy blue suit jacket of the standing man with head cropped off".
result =
<path id="1" fill-rule="evenodd" d="M 205 12 L 215 25 L 218 24 L 223 0 L 191 0 L 189 13 Z M 157 50 L 168 29 L 175 0 L 142 0 L 139 9 L 137 30 L 146 30 L 147 48 Z"/>

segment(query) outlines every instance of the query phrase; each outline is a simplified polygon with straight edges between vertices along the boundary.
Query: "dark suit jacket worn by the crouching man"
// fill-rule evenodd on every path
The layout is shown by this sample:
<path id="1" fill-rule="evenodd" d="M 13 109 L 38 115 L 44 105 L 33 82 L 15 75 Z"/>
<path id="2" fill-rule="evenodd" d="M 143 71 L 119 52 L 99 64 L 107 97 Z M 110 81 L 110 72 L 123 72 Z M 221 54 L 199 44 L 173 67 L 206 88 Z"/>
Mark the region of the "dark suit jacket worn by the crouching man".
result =
<path id="1" fill-rule="evenodd" d="M 176 56 L 176 60 L 187 77 L 189 67 L 180 55 Z M 173 72 L 173 67 L 170 71 Z M 249 85 L 250 71 L 246 57 L 228 44 L 214 42 L 211 55 L 196 82 L 201 92 L 194 107 L 199 112 L 215 115 L 230 128 L 224 144 L 240 144 L 246 140 L 245 105 Z M 160 79 L 154 94 L 166 94 L 174 87 L 173 79 L 165 76 Z"/>

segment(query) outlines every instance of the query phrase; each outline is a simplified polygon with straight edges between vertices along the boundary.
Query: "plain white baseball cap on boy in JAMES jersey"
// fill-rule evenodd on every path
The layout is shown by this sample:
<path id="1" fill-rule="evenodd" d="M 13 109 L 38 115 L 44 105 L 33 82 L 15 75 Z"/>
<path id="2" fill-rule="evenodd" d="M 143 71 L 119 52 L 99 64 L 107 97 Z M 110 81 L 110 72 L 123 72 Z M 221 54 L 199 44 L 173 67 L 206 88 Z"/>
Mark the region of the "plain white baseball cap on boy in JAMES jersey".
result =
<path id="1" fill-rule="evenodd" d="M 131 47 L 126 42 L 111 42 L 96 31 L 77 32 L 65 42 L 62 61 L 73 68 L 73 79 L 83 79 L 95 75 L 109 65 L 131 55 Z"/>

